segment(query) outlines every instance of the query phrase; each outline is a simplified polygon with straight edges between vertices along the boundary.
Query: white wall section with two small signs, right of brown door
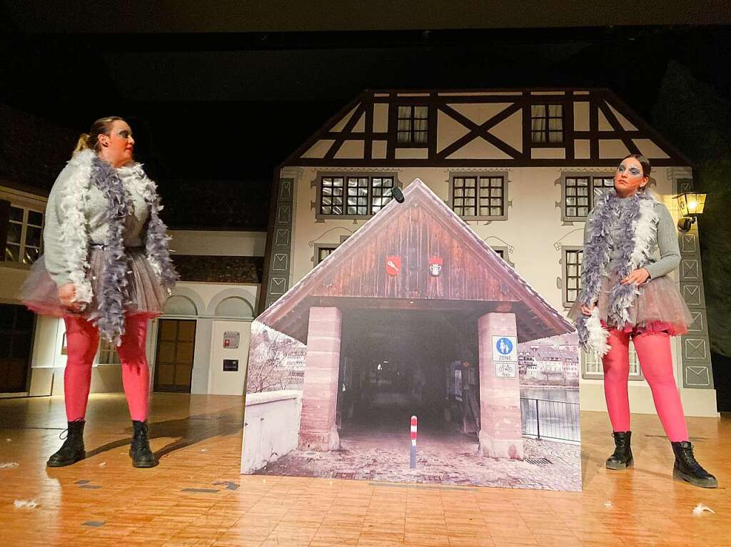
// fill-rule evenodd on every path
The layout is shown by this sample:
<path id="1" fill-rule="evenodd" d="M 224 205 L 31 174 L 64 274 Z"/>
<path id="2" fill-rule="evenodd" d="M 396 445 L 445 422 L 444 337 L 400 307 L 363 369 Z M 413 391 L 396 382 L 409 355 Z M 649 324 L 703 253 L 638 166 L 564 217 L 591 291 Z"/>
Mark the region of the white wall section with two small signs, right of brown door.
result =
<path id="1" fill-rule="evenodd" d="M 224 332 L 240 334 L 238 348 L 224 348 Z M 249 362 L 251 320 L 213 321 L 211 329 L 211 366 L 208 376 L 208 393 L 216 395 L 243 395 L 246 382 L 246 364 Z M 238 359 L 238 371 L 224 371 L 224 359 Z"/>

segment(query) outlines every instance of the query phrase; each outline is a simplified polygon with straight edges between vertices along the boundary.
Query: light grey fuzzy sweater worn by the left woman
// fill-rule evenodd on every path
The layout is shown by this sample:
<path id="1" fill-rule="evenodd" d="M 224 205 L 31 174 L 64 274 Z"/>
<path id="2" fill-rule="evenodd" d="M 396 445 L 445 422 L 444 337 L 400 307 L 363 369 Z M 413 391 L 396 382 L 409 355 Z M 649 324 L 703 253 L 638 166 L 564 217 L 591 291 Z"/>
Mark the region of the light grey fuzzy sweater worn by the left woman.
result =
<path id="1" fill-rule="evenodd" d="M 71 283 L 67 261 L 64 260 L 64 243 L 61 240 L 61 195 L 69 184 L 69 178 L 75 167 L 67 165 L 53 183 L 48 204 L 46 205 L 45 229 L 43 230 L 43 245 L 45 267 L 50 277 L 59 287 Z M 127 194 L 128 214 L 124 222 L 123 242 L 125 247 L 140 247 L 144 245 L 145 223 L 148 220 L 149 208 L 144 197 L 134 187 L 125 184 Z M 84 218 L 88 241 L 91 244 L 107 244 L 109 226 L 105 221 L 107 215 L 107 199 L 94 185 L 88 190 L 88 199 L 83 204 Z"/>

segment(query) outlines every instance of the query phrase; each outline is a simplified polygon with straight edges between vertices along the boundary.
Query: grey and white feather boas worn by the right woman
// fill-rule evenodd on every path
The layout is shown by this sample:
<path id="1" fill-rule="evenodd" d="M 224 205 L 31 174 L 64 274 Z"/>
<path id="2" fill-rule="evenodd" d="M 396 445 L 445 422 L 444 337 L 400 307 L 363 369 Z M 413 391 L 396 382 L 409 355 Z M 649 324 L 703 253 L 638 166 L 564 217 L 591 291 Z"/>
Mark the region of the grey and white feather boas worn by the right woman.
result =
<path id="1" fill-rule="evenodd" d="M 622 285 L 620 280 L 647 264 L 651 241 L 657 230 L 656 201 L 649 192 L 637 192 L 634 196 L 624 198 L 623 201 L 629 200 L 625 207 L 620 207 L 620 199 L 614 191 L 596 197 L 591 219 L 588 220 L 590 237 L 583 251 L 583 291 L 580 297 L 581 302 L 588 306 L 598 301 L 612 250 L 621 250 L 617 283 L 612 288 L 607 305 L 607 324 L 616 326 L 624 326 L 629 321 L 629 307 L 640 294 L 635 284 Z M 612 232 L 615 222 L 620 227 L 617 240 L 614 240 Z M 576 329 L 579 343 L 586 351 L 606 355 L 609 351 L 609 332 L 601 324 L 597 307 L 594 307 L 591 315 L 579 316 Z"/>

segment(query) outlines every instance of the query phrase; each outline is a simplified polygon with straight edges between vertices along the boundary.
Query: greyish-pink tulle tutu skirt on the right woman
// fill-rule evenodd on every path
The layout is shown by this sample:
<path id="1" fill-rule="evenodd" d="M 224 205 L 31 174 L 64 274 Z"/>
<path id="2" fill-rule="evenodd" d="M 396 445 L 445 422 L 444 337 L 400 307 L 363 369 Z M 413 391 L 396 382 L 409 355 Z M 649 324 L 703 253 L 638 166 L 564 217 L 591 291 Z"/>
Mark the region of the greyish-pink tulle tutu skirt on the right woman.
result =
<path id="1" fill-rule="evenodd" d="M 667 332 L 671 336 L 686 334 L 693 319 L 683 297 L 675 288 L 675 283 L 667 275 L 651 279 L 640 286 L 640 294 L 629 307 L 629 321 L 624 325 L 612 324 L 607 318 L 612 289 L 616 287 L 617 275 L 602 278 L 599 289 L 599 319 L 611 329 L 629 332 L 633 335 L 647 332 Z M 581 315 L 581 305 L 575 302 L 569 311 L 569 318 L 576 320 Z"/>

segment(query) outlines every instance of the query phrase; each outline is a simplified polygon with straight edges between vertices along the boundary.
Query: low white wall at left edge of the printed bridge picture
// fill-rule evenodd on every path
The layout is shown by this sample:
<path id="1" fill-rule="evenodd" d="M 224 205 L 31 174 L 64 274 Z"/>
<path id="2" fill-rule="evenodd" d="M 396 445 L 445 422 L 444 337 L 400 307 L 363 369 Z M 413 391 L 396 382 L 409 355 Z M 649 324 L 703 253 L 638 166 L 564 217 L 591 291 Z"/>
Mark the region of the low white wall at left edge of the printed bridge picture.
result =
<path id="1" fill-rule="evenodd" d="M 302 391 L 268 391 L 246 396 L 241 474 L 249 475 L 297 448 Z"/>

